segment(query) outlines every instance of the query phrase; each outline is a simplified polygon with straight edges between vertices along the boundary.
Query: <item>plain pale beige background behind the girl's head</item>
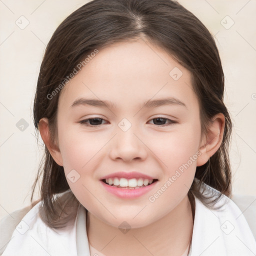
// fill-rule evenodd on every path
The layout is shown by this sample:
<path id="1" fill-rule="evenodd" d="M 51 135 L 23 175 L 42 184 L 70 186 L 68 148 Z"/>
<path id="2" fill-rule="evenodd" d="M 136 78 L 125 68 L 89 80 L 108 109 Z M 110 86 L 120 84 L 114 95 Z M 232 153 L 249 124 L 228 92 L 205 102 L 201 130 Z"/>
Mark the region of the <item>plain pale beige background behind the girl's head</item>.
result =
<path id="1" fill-rule="evenodd" d="M 58 24 L 86 2 L 0 0 L 0 217 L 29 204 L 42 153 L 32 107 L 43 51 Z M 234 128 L 233 193 L 256 195 L 256 0 L 179 2 L 215 35 Z M 29 22 L 24 29 L 17 25 L 20 19 L 23 25 Z M 16 127 L 21 118 L 28 123 L 23 131 Z"/>

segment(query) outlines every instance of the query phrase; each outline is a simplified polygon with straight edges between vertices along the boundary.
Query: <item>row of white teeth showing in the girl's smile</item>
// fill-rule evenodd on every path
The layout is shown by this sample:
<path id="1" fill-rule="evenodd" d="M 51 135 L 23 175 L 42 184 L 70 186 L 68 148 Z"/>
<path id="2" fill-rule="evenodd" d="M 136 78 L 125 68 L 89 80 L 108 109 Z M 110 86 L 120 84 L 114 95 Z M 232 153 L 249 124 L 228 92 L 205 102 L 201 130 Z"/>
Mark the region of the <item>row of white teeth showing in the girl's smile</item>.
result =
<path id="1" fill-rule="evenodd" d="M 143 179 L 143 178 L 106 178 L 106 183 L 109 185 L 119 186 L 119 187 L 137 187 L 137 186 L 147 186 L 153 182 L 153 179 Z"/>

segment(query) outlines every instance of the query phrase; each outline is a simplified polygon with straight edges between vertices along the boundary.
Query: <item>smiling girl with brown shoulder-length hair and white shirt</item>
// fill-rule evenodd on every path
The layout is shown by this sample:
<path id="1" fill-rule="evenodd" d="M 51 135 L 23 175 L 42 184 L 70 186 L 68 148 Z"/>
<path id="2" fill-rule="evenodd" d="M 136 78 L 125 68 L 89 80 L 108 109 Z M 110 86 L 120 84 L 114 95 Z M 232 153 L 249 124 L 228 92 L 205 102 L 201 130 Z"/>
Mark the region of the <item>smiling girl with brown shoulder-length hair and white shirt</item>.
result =
<path id="1" fill-rule="evenodd" d="M 71 13 L 34 98 L 41 198 L 32 191 L 2 255 L 254 255 L 229 198 L 223 91 L 214 39 L 179 3 L 93 0 Z"/>

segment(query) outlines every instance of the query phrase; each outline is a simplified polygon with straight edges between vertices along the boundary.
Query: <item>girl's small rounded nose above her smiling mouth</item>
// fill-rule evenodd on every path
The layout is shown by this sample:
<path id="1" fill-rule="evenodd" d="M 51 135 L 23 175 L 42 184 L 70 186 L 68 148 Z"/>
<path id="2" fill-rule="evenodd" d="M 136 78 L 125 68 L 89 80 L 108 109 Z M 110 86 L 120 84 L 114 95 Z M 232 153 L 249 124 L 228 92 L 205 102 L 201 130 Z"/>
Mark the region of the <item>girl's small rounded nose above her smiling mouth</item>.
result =
<path id="1" fill-rule="evenodd" d="M 144 160 L 147 156 L 147 146 L 146 141 L 143 140 L 143 136 L 133 126 L 126 131 L 117 127 L 116 135 L 109 145 L 109 157 L 113 160 L 122 159 L 125 162 L 133 159 Z"/>

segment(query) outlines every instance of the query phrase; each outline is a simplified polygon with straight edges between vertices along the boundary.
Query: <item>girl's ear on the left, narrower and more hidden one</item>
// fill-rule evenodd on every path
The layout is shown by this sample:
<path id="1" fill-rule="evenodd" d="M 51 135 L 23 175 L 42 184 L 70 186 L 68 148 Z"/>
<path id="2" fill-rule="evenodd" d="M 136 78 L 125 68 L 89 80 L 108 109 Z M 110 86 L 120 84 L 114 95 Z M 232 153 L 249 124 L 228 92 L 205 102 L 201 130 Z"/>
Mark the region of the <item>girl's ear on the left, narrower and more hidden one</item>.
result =
<path id="1" fill-rule="evenodd" d="M 62 156 L 61 156 L 60 150 L 58 148 L 58 145 L 56 145 L 55 143 L 53 143 L 50 140 L 48 119 L 45 117 L 41 118 L 39 121 L 38 127 L 39 127 L 41 138 L 42 138 L 45 146 L 49 150 L 52 158 L 58 165 L 63 166 L 63 160 L 62 160 Z"/>

